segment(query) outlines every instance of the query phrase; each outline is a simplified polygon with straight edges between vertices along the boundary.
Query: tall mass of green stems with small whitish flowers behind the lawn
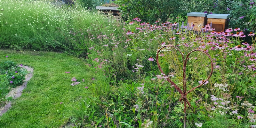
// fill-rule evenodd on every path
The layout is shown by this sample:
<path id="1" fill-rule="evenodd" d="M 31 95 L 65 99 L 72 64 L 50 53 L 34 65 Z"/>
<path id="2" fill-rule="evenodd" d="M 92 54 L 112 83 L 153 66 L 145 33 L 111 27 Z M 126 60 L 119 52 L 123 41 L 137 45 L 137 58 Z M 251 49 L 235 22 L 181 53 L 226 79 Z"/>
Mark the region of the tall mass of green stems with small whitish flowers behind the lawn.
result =
<path id="1" fill-rule="evenodd" d="M 95 24 L 104 28 L 108 26 L 105 17 L 79 6 L 59 7 L 47 1 L 28 0 L 0 2 L 1 48 L 65 50 L 72 53 L 76 47 L 80 47 L 80 50 L 86 51 L 83 38 L 87 36 L 87 28 Z M 69 35 L 77 31 L 81 32 L 82 39 L 70 40 Z"/>

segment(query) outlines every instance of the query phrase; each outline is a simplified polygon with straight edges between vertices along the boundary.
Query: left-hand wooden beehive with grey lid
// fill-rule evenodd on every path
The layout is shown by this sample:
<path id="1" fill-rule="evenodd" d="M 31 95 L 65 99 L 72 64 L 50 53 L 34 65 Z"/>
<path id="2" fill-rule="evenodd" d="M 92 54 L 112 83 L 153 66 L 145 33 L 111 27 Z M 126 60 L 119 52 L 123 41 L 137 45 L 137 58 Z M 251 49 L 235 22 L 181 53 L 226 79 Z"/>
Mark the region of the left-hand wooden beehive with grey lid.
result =
<path id="1" fill-rule="evenodd" d="M 207 13 L 204 12 L 189 12 L 188 16 L 188 24 L 191 26 L 194 24 L 194 30 L 198 31 L 207 23 Z"/>

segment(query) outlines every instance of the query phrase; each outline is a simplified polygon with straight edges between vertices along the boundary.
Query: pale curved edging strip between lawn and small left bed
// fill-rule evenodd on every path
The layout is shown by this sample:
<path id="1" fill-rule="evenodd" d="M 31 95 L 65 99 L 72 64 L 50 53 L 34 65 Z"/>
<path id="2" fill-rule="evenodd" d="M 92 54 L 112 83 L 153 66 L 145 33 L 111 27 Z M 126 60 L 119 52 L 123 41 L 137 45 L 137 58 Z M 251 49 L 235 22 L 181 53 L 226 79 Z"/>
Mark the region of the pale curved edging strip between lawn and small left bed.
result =
<path id="1" fill-rule="evenodd" d="M 18 86 L 16 88 L 12 88 L 12 90 L 6 95 L 7 97 L 13 97 L 13 99 L 16 99 L 21 96 L 22 90 L 27 87 L 28 80 L 32 78 L 33 76 L 33 69 L 28 66 L 19 66 L 28 71 L 28 74 L 25 77 L 24 83 L 21 86 Z M 6 103 L 4 107 L 0 108 L 0 116 L 2 116 L 5 112 L 7 112 L 12 107 L 12 102 Z"/>

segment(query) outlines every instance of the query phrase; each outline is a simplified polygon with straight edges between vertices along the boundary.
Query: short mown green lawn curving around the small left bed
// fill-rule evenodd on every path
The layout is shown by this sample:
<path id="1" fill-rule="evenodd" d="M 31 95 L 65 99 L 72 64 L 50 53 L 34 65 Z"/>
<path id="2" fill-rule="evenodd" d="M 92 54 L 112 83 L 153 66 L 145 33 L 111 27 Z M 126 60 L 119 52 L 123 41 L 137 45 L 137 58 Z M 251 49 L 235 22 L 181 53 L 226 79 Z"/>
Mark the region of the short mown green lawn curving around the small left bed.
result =
<path id="1" fill-rule="evenodd" d="M 79 58 L 55 52 L 0 50 L 0 61 L 7 60 L 32 67 L 34 76 L 22 96 L 0 117 L 0 128 L 60 127 L 77 102 L 89 94 L 84 87 L 90 88 L 90 71 Z M 81 83 L 71 86 L 73 77 Z"/>

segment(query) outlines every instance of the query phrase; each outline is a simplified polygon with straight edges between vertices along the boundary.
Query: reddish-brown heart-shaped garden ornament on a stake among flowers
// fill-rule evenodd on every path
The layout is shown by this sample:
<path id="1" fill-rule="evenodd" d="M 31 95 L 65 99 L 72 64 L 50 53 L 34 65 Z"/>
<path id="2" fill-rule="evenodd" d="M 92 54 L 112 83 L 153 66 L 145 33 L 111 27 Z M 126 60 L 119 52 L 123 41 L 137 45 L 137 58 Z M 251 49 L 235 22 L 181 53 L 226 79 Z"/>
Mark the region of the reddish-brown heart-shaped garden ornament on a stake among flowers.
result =
<path id="1" fill-rule="evenodd" d="M 175 46 L 173 46 L 173 45 L 165 45 L 165 46 L 163 46 L 162 48 L 160 48 L 160 49 L 157 51 L 157 54 L 156 54 L 156 63 L 157 63 L 157 66 L 158 66 L 159 70 L 161 71 L 161 73 L 163 73 L 163 74 L 164 74 L 164 72 L 163 72 L 163 70 L 162 70 L 162 68 L 160 67 L 160 64 L 159 64 L 159 62 L 158 62 L 158 54 L 159 54 L 159 52 L 160 52 L 162 49 L 164 49 L 165 47 L 173 47 L 173 48 L 177 49 L 177 50 L 180 52 L 181 56 L 182 56 L 182 61 L 183 61 L 183 91 L 182 91 L 182 90 L 180 89 L 180 87 L 178 87 L 172 80 L 170 80 L 169 77 L 167 78 L 167 81 L 168 81 L 169 83 L 171 83 L 171 85 L 173 85 L 173 86 L 175 87 L 175 89 L 181 94 L 181 98 L 180 98 L 179 101 L 180 101 L 180 102 L 184 101 L 184 128 L 186 128 L 186 108 L 187 108 L 187 105 L 186 105 L 186 104 L 188 104 L 189 107 L 191 106 L 190 103 L 188 102 L 187 94 L 190 93 L 191 91 L 195 90 L 196 88 L 202 86 L 208 79 L 210 79 L 210 77 L 212 76 L 212 72 L 213 72 L 212 58 L 211 58 L 211 56 L 210 56 L 207 52 L 205 52 L 204 50 L 195 49 L 195 50 L 189 52 L 188 55 L 186 56 L 185 60 L 184 60 L 184 56 L 182 55 L 182 52 L 180 51 L 179 48 L 177 48 L 177 47 L 175 47 Z M 204 80 L 200 85 L 198 85 L 198 86 L 196 86 L 196 87 L 190 89 L 190 90 L 187 92 L 187 89 L 186 89 L 186 65 L 187 65 L 188 56 L 189 56 L 192 52 L 195 52 L 195 51 L 201 51 L 201 52 L 203 52 L 203 53 L 211 60 L 212 69 L 211 69 L 211 72 L 210 72 L 209 77 L 208 77 L 206 80 Z M 164 75 L 164 76 L 166 76 L 166 75 Z"/>

